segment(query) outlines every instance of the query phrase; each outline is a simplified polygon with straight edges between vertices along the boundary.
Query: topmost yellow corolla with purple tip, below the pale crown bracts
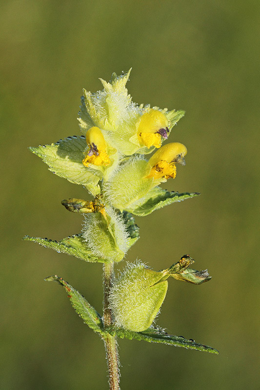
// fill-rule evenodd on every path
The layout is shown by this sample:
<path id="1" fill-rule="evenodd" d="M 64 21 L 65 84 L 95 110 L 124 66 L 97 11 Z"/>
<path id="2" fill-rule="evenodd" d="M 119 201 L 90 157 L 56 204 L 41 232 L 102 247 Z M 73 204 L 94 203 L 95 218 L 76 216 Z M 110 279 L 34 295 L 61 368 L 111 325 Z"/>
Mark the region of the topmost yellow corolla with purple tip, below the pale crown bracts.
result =
<path id="1" fill-rule="evenodd" d="M 137 135 L 140 144 L 147 148 L 155 146 L 160 148 L 162 138 L 168 138 L 168 119 L 159 110 L 151 109 L 142 115 L 137 128 Z"/>

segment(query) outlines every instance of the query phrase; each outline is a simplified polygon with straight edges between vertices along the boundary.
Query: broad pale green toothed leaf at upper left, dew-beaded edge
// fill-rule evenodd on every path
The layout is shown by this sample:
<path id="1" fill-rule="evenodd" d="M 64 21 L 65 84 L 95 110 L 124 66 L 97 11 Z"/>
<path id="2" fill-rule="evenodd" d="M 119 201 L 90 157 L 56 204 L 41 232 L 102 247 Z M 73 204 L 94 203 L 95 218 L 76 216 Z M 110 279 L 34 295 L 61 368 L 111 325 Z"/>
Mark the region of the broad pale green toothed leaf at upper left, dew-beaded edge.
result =
<path id="1" fill-rule="evenodd" d="M 96 172 L 82 164 L 85 148 L 85 137 L 73 136 L 60 139 L 51 145 L 29 147 L 29 150 L 42 158 L 54 174 L 72 183 L 83 185 L 91 194 L 97 195 L 100 192 L 98 185 L 100 171 Z"/>

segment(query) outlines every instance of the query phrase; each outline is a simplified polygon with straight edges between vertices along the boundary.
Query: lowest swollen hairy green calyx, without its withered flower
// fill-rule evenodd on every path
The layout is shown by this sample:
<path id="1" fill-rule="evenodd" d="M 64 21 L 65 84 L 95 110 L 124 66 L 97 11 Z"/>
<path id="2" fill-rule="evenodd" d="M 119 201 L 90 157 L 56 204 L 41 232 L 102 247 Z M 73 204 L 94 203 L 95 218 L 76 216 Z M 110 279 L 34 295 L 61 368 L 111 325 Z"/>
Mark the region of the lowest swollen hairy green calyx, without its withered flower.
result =
<path id="1" fill-rule="evenodd" d="M 162 276 L 141 262 L 128 264 L 110 291 L 117 326 L 140 332 L 152 325 L 167 292 L 168 282 L 160 281 Z"/>

